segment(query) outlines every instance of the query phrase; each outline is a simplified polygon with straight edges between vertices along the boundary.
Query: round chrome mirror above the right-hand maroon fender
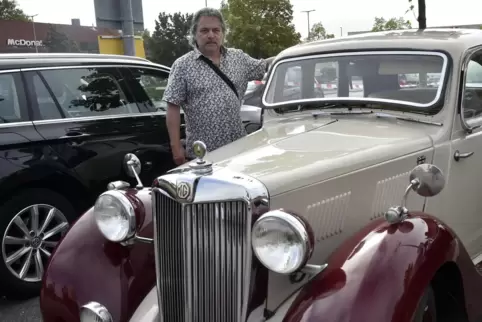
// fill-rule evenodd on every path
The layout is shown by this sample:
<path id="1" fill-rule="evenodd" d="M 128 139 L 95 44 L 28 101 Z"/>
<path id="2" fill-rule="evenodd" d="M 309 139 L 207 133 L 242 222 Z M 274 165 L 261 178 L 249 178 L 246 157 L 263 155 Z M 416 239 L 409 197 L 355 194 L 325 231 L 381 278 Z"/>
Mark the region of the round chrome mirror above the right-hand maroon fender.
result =
<path id="1" fill-rule="evenodd" d="M 412 190 L 420 196 L 433 197 L 445 187 L 445 178 L 437 166 L 420 164 L 410 172 L 410 184 Z"/>

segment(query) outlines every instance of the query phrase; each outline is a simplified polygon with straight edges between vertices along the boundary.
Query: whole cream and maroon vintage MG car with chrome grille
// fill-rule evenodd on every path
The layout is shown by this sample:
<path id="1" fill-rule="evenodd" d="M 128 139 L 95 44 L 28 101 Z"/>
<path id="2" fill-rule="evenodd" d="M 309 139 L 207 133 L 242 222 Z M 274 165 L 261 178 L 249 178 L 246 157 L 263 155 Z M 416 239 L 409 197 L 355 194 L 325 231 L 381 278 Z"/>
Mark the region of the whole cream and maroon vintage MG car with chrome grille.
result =
<path id="1" fill-rule="evenodd" d="M 481 321 L 482 77 L 466 81 L 481 64 L 482 30 L 284 50 L 261 129 L 195 142 L 153 183 L 126 156 L 137 184 L 112 182 L 45 268 L 44 321 Z M 337 87 L 321 98 L 323 66 Z M 283 96 L 290 68 L 298 99 Z"/>

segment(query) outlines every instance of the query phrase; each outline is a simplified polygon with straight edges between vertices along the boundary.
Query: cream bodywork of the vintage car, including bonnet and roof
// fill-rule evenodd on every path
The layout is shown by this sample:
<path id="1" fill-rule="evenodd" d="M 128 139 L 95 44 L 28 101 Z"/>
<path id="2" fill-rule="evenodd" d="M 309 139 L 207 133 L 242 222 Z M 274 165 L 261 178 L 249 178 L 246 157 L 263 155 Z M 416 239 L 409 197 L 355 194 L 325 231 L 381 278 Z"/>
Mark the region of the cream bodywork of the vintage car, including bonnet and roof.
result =
<path id="1" fill-rule="evenodd" d="M 342 116 L 323 115 L 317 110 L 279 114 L 265 109 L 262 129 L 208 153 L 206 159 L 216 167 L 260 180 L 270 193 L 272 209 L 285 208 L 303 215 L 315 233 L 316 246 L 309 261 L 315 265 L 323 263 L 347 237 L 382 217 L 390 206 L 399 204 L 414 166 L 423 162 L 435 164 L 447 178 L 446 188 L 434 198 L 410 195 L 408 208 L 436 214 L 448 223 L 474 262 L 478 261 L 482 252 L 482 216 L 477 210 L 482 209 L 482 198 L 476 188 L 482 182 L 482 171 L 470 169 L 482 164 L 482 129 L 468 134 L 457 109 L 459 71 L 467 54 L 463 48 L 481 45 L 477 35 L 481 34 L 456 30 L 425 31 L 423 36 L 413 31 L 387 32 L 383 36 L 367 34 L 326 41 L 323 49 L 310 49 L 312 45 L 287 49 L 280 54 L 282 58 L 275 60 L 275 72 L 284 57 L 304 59 L 303 54 L 313 53 L 314 48 L 320 55 L 353 48 L 366 51 L 373 46 L 387 51 L 395 47 L 428 53 L 433 53 L 434 48 L 437 52 L 443 50 L 448 59 L 443 76 L 443 108 L 430 116 L 390 109 Z M 451 42 L 451 36 L 464 38 L 463 45 Z M 380 42 L 375 43 L 377 40 Z M 396 41 L 396 45 L 390 40 Z M 343 112 L 346 108 L 329 111 Z M 377 117 L 375 113 L 409 116 L 417 121 Z M 475 153 L 456 162 L 456 150 Z M 268 308 L 279 305 L 299 287 L 283 275 L 270 273 L 269 279 Z M 291 298 L 295 296 L 296 293 Z M 155 321 L 157 305 L 153 288 L 131 321 Z"/>

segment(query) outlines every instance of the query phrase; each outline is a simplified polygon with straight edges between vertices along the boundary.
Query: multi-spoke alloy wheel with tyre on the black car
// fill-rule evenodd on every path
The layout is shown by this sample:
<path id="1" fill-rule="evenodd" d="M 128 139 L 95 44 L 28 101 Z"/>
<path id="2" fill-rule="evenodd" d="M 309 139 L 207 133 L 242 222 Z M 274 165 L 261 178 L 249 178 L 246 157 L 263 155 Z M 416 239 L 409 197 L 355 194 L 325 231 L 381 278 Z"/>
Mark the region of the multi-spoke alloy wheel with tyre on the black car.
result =
<path id="1" fill-rule="evenodd" d="M 39 295 L 49 257 L 75 218 L 72 204 L 48 189 L 23 190 L 0 205 L 2 295 L 13 300 Z"/>

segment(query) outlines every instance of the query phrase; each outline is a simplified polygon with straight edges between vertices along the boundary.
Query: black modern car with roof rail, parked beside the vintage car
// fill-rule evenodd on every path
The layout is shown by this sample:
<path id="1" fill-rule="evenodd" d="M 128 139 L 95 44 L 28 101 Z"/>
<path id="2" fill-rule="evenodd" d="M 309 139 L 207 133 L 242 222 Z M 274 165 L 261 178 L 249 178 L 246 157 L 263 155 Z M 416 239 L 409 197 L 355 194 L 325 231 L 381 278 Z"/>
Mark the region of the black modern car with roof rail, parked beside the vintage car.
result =
<path id="1" fill-rule="evenodd" d="M 169 71 L 128 56 L 0 55 L 4 295 L 38 295 L 48 258 L 74 220 L 108 183 L 135 182 L 123 166 L 127 153 L 142 159 L 144 182 L 175 167 L 162 101 Z M 246 126 L 257 129 L 261 114 L 245 110 Z"/>

